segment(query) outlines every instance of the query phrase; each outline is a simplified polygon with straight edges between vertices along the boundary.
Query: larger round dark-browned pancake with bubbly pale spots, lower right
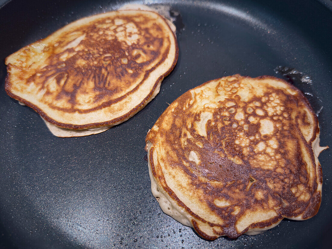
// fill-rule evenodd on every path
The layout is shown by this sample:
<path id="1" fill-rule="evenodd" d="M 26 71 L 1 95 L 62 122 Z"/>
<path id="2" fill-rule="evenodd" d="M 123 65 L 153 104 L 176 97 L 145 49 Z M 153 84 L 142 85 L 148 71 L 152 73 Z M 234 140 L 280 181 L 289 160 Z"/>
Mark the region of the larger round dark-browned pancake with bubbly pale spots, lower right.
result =
<path id="1" fill-rule="evenodd" d="M 240 75 L 177 98 L 146 136 L 153 196 L 205 239 L 254 235 L 320 206 L 319 125 L 284 80 Z"/>

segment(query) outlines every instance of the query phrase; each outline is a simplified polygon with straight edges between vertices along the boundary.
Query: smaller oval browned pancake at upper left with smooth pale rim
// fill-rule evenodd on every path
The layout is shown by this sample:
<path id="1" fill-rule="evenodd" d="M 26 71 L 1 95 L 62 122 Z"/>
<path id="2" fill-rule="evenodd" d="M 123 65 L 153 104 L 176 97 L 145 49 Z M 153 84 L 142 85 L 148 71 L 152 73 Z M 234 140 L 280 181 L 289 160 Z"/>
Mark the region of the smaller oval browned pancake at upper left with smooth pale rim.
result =
<path id="1" fill-rule="evenodd" d="M 177 58 L 175 34 L 161 15 L 114 11 L 77 20 L 8 56 L 5 89 L 53 134 L 89 135 L 144 108 Z"/>

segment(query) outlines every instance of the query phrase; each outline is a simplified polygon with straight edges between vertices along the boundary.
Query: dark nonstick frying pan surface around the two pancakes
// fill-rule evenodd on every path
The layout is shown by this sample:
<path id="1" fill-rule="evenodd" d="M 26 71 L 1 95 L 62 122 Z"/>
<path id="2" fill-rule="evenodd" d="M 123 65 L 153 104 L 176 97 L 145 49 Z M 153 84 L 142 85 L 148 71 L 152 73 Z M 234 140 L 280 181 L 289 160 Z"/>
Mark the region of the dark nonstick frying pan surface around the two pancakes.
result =
<path id="1" fill-rule="evenodd" d="M 159 208 L 150 190 L 144 139 L 178 96 L 240 73 L 290 80 L 318 114 L 321 145 L 331 145 L 331 2 L 145 1 L 172 6 L 178 29 L 179 60 L 160 93 L 106 132 L 53 136 L 36 112 L 6 95 L 4 58 L 67 23 L 124 3 L 0 0 L 1 247 L 326 248 L 332 234 L 331 149 L 319 157 L 323 197 L 316 216 L 285 219 L 256 236 L 207 241 Z"/>

